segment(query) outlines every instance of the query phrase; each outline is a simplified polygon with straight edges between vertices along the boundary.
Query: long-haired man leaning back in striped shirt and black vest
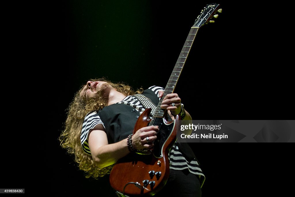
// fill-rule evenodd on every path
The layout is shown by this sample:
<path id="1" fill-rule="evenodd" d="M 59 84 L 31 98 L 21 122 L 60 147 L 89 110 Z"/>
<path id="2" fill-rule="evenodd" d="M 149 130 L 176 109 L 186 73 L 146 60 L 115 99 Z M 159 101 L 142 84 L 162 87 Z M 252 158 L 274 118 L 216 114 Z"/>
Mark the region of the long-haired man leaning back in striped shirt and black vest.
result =
<path id="1" fill-rule="evenodd" d="M 133 149 L 153 148 L 159 131 L 157 126 L 140 128 L 131 137 L 131 144 L 127 143 L 137 118 L 145 110 L 133 95 L 143 94 L 157 105 L 163 91 L 161 87 L 152 86 L 134 92 L 128 85 L 96 79 L 88 81 L 77 92 L 69 106 L 60 141 L 69 153 L 75 154 L 87 178 L 108 174 L 112 165 Z M 182 120 L 191 120 L 176 93 L 166 95 L 161 108 L 168 110 L 168 118 L 172 120 L 177 114 Z M 191 148 L 186 143 L 174 143 L 169 160 L 168 181 L 155 196 L 201 196 L 205 177 Z"/>

